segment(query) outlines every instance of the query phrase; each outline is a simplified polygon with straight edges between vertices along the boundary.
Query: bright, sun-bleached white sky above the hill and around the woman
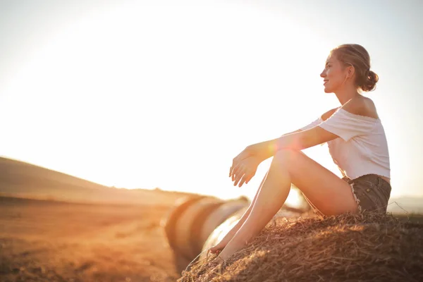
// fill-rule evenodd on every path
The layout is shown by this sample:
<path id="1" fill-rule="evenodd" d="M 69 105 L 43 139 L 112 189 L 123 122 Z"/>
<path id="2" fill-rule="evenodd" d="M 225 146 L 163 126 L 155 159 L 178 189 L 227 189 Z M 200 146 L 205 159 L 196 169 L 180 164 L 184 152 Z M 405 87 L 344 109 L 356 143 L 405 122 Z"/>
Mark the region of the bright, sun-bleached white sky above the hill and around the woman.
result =
<path id="1" fill-rule="evenodd" d="M 422 1 L 0 0 L 0 156 L 118 188 L 253 197 L 247 145 L 339 106 L 319 77 L 357 43 L 379 75 L 391 197 L 423 196 Z M 306 149 L 338 176 L 327 145 Z"/>

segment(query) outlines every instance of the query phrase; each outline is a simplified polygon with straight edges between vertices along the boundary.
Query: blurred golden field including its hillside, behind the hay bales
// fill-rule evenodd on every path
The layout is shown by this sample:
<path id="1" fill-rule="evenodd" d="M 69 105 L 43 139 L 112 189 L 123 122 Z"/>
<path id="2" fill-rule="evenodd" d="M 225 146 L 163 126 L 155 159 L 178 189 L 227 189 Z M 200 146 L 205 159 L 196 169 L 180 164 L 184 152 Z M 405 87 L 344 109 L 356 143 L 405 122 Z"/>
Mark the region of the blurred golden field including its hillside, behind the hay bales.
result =
<path id="1" fill-rule="evenodd" d="M 160 221 L 187 195 L 108 188 L 0 158 L 0 281 L 176 281 L 188 262 L 173 257 Z"/>

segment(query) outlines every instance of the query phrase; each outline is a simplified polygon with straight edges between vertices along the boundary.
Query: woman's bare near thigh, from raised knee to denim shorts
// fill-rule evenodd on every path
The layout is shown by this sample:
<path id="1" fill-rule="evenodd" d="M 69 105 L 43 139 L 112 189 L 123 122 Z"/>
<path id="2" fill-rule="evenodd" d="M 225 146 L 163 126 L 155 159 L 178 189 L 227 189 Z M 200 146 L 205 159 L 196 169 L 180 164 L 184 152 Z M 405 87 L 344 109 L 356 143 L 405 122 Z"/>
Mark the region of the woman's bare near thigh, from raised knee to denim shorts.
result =
<path id="1" fill-rule="evenodd" d="M 358 212 L 350 185 L 302 152 L 281 150 L 274 162 L 288 168 L 291 182 L 322 214 Z"/>

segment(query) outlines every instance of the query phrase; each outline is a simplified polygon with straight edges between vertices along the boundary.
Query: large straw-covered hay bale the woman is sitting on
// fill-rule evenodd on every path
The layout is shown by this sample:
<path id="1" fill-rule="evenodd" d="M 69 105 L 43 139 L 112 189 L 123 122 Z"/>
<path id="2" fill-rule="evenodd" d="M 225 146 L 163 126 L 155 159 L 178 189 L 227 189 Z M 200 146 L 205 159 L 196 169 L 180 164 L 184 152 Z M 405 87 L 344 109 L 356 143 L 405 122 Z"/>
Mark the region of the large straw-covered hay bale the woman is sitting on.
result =
<path id="1" fill-rule="evenodd" d="M 178 281 L 423 281 L 423 224 L 367 212 L 280 219 L 213 269 L 214 257 Z"/>

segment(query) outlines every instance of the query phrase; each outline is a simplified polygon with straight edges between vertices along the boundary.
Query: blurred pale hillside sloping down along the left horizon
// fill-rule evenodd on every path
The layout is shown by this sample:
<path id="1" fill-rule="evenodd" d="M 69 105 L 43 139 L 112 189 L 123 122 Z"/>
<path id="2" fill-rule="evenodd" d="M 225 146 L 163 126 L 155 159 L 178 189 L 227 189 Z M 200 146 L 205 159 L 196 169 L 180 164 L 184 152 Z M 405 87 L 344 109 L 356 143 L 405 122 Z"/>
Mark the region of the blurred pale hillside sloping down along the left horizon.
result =
<path id="1" fill-rule="evenodd" d="M 70 202 L 168 205 L 178 197 L 192 194 L 159 189 L 110 188 L 66 173 L 0 157 L 0 195 Z"/>

